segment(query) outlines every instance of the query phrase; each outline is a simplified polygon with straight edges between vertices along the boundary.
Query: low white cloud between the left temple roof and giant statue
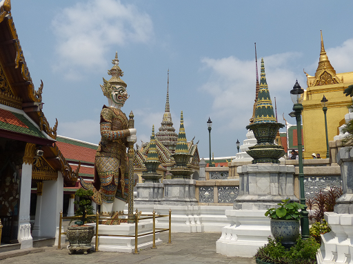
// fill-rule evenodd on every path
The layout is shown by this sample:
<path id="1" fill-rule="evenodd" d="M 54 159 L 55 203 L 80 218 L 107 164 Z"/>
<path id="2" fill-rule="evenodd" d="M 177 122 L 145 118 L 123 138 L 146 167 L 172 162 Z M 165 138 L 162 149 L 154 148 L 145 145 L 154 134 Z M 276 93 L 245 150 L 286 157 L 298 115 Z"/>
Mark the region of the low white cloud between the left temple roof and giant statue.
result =
<path id="1" fill-rule="evenodd" d="M 59 122 L 58 134 L 95 144 L 98 144 L 101 139 L 99 122 L 97 120 Z"/>

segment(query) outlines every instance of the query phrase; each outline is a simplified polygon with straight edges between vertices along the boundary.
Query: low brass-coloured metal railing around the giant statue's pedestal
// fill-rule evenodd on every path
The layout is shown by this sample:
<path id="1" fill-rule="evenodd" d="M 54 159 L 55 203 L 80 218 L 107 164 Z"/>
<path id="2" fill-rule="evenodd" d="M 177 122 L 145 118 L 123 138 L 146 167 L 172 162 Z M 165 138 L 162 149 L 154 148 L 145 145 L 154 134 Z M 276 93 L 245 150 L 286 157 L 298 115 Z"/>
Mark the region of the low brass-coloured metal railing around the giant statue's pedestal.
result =
<path id="1" fill-rule="evenodd" d="M 128 214 L 119 214 L 119 215 L 128 215 Z M 96 217 L 96 241 L 95 241 L 95 251 L 99 251 L 98 248 L 98 236 L 125 236 L 125 237 L 134 237 L 135 239 L 135 248 L 134 248 L 134 254 L 139 254 L 139 251 L 137 249 L 138 245 L 138 238 L 139 236 L 146 236 L 148 234 L 152 234 L 152 248 L 157 248 L 156 247 L 156 233 L 160 232 L 165 232 L 169 231 L 169 238 L 168 238 L 168 243 L 172 243 L 172 210 L 169 210 L 169 214 L 156 214 L 156 212 L 153 211 L 152 214 L 138 214 L 137 210 L 134 214 L 134 223 L 135 223 L 135 234 L 134 236 L 129 236 L 129 235 L 124 235 L 124 234 L 99 234 L 99 212 L 96 214 L 89 214 L 86 215 L 85 217 Z M 156 228 L 156 218 L 161 218 L 161 217 L 169 217 L 169 228 Z M 60 220 L 59 220 L 59 239 L 58 239 L 58 249 L 61 249 L 61 235 L 66 234 L 67 232 L 61 232 L 62 228 L 62 221 L 63 219 L 79 219 L 82 218 L 82 216 L 75 216 L 75 217 L 63 217 L 63 212 L 60 212 Z M 147 220 L 147 219 L 153 219 L 153 228 L 152 232 L 147 232 L 143 234 L 139 234 L 139 221 L 141 220 Z M 102 219 L 102 220 L 107 220 L 107 219 Z M 112 220 L 119 220 L 119 219 L 112 219 Z"/>

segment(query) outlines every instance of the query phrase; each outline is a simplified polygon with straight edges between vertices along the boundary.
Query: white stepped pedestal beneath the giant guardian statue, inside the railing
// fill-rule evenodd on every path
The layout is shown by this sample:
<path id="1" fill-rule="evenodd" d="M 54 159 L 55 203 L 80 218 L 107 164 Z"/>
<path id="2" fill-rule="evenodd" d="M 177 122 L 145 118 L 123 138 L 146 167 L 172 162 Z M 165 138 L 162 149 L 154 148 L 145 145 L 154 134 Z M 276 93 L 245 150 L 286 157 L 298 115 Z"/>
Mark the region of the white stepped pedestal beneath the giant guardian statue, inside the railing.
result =
<path id="1" fill-rule="evenodd" d="M 95 227 L 95 225 L 94 225 Z M 153 232 L 153 223 L 150 219 L 141 220 L 138 223 L 138 234 L 145 234 Z M 95 232 L 95 231 L 94 231 Z M 119 234 L 124 236 L 98 236 L 98 250 L 106 252 L 125 252 L 132 253 L 135 248 L 135 224 L 134 223 L 121 223 L 120 225 L 99 225 L 99 234 Z M 129 237 L 128 237 L 129 236 Z M 152 248 L 153 234 L 146 234 L 139 236 L 137 239 L 138 250 L 144 248 Z M 94 248 L 96 236 L 93 236 L 92 247 Z M 159 239 L 159 233 L 156 233 L 156 245 L 161 245 L 163 241 Z"/>

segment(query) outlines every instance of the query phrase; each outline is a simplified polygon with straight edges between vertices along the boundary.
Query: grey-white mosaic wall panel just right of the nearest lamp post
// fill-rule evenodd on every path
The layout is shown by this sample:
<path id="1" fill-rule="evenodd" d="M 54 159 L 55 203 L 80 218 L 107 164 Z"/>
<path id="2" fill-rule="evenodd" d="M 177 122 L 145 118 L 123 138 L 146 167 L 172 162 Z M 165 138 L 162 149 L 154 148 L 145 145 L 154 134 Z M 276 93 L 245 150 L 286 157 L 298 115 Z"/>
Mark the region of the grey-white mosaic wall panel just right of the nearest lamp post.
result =
<path id="1" fill-rule="evenodd" d="M 305 198 L 314 197 L 315 192 L 327 187 L 342 187 L 341 176 L 304 177 Z"/>

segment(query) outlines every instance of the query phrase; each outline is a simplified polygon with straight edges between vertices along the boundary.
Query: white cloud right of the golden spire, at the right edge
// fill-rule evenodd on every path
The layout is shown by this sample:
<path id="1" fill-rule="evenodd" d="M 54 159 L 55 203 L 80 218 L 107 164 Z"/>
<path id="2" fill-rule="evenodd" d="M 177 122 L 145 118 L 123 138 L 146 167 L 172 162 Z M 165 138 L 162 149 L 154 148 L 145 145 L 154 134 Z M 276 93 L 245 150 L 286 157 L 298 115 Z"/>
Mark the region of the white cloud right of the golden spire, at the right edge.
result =
<path id="1" fill-rule="evenodd" d="M 353 69 L 353 39 L 347 39 L 339 47 L 326 50 L 331 65 L 337 73 L 352 72 Z"/>

